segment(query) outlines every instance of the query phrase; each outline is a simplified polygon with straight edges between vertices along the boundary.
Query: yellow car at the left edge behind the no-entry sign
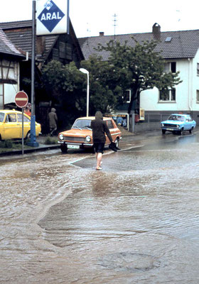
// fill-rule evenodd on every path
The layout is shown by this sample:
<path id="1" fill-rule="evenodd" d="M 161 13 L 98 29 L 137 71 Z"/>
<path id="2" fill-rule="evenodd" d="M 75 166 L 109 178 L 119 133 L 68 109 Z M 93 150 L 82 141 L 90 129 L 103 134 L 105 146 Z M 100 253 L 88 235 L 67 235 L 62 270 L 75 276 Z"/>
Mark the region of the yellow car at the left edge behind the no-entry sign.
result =
<path id="1" fill-rule="evenodd" d="M 31 118 L 23 114 L 23 138 L 31 133 Z M 36 122 L 36 136 L 41 133 L 41 124 Z M 22 138 L 22 112 L 16 110 L 0 110 L 0 141 Z"/>

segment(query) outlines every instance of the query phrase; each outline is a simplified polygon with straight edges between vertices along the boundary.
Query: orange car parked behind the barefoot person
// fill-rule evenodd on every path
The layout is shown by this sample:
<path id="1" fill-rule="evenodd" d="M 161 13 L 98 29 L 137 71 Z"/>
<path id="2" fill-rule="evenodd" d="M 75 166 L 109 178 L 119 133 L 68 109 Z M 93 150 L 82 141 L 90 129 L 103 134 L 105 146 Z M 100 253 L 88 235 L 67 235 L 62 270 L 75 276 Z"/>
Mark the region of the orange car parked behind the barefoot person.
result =
<path id="1" fill-rule="evenodd" d="M 93 119 L 95 119 L 95 116 L 76 119 L 70 130 L 59 133 L 58 143 L 60 143 L 60 149 L 63 153 L 66 153 L 68 149 L 84 149 L 93 147 L 92 129 L 90 128 L 90 124 Z M 112 139 L 118 147 L 119 139 L 121 138 L 121 131 L 118 129 L 112 118 L 104 117 L 103 119 L 106 121 L 112 135 Z M 109 138 L 107 138 L 105 146 L 109 143 Z"/>

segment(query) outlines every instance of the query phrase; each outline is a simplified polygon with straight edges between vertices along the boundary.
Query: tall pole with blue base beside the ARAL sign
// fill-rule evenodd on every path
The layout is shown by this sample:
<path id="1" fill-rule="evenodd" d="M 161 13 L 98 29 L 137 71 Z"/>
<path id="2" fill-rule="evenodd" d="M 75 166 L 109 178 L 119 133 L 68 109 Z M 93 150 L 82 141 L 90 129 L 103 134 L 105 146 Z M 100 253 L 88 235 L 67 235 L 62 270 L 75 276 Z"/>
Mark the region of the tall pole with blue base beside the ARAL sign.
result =
<path id="1" fill-rule="evenodd" d="M 31 142 L 29 146 L 38 147 L 36 142 L 36 116 L 35 116 L 35 50 L 36 50 L 36 1 L 33 0 L 32 21 L 32 55 L 31 55 Z"/>

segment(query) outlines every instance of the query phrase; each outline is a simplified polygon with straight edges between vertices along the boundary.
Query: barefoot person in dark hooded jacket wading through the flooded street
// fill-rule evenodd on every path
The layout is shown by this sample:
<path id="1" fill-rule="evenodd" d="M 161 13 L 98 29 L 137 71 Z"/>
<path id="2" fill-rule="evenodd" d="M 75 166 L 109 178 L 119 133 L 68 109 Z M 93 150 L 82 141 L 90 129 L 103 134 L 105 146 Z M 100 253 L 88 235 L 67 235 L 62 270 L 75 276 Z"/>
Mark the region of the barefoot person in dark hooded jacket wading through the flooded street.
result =
<path id="1" fill-rule="evenodd" d="M 103 121 L 103 116 L 101 111 L 97 111 L 95 114 L 95 119 L 91 121 L 92 129 L 92 138 L 93 146 L 95 149 L 95 156 L 97 159 L 96 170 L 102 170 L 102 154 L 104 153 L 104 144 L 106 141 L 105 133 L 109 138 L 109 141 L 112 142 L 112 136 L 106 124 L 106 121 Z"/>

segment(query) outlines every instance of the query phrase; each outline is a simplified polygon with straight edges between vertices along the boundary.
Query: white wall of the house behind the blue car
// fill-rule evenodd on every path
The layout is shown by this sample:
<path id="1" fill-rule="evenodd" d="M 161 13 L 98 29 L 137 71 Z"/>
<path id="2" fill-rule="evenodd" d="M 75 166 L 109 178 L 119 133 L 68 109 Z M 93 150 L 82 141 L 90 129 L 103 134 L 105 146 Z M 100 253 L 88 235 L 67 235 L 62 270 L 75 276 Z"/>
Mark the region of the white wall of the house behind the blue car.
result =
<path id="1" fill-rule="evenodd" d="M 174 61 L 174 60 L 173 60 Z M 155 87 L 141 92 L 140 107 L 145 111 L 145 121 L 135 124 L 135 131 L 147 131 L 159 129 L 159 122 L 164 114 L 183 111 L 190 113 L 199 124 L 199 102 L 197 102 L 197 90 L 199 90 L 199 75 L 197 75 L 197 63 L 199 63 L 199 50 L 193 59 L 176 61 L 176 71 L 180 71 L 179 77 L 183 82 L 176 85 L 176 102 L 159 102 L 159 92 Z"/>

